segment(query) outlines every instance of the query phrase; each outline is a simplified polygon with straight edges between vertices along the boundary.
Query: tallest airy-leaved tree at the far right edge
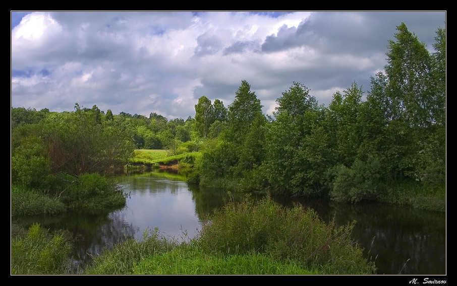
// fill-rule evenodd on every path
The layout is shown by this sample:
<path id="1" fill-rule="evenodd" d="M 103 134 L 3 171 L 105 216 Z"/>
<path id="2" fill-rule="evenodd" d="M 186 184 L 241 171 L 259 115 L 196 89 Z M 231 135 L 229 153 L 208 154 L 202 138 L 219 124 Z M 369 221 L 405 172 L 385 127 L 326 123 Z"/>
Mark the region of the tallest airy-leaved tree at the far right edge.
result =
<path id="1" fill-rule="evenodd" d="M 363 105 L 359 156 L 377 158 L 390 179 L 444 178 L 444 30 L 435 40 L 432 56 L 404 23 L 398 26 L 389 41 L 385 75 L 372 78 Z"/>

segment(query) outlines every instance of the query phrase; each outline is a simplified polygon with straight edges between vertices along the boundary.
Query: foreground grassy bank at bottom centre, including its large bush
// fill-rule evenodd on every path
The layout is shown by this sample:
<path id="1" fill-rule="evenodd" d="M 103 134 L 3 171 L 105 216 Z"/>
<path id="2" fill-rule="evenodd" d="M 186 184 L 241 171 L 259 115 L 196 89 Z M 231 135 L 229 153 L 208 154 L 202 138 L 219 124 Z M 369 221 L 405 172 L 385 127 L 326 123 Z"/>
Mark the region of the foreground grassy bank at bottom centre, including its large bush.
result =
<path id="1" fill-rule="evenodd" d="M 158 230 L 95 257 L 86 274 L 373 274 L 349 235 L 354 224 L 326 225 L 312 210 L 270 198 L 229 203 L 188 243 Z"/>

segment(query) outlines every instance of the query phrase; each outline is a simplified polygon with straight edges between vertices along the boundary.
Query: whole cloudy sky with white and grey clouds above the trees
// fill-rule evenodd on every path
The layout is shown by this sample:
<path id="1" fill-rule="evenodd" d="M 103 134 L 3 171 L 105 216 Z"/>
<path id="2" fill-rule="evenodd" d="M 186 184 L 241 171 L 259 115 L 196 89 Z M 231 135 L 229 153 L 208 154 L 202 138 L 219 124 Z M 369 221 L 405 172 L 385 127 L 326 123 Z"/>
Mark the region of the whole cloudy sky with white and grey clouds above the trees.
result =
<path id="1" fill-rule="evenodd" d="M 11 104 L 96 104 L 168 119 L 201 96 L 229 105 L 242 80 L 271 114 L 300 82 L 327 105 L 383 70 L 402 22 L 432 51 L 445 12 L 11 12 Z"/>

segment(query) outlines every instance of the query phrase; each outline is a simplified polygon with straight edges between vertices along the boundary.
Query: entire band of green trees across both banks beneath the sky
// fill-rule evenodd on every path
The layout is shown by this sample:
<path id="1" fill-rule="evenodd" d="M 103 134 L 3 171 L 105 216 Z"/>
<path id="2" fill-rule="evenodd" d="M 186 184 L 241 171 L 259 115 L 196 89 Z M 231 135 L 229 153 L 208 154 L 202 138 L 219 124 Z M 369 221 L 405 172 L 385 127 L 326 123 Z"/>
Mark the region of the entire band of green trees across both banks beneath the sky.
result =
<path id="1" fill-rule="evenodd" d="M 445 30 L 434 52 L 402 23 L 389 41 L 383 73 L 364 95 L 356 82 L 328 107 L 302 83 L 276 100 L 273 116 L 248 82 L 228 107 L 202 96 L 195 118 L 12 109 L 13 182 L 39 187 L 41 176 L 103 173 L 133 149 L 199 151 L 190 180 L 252 192 L 378 200 L 389 186 L 445 185 Z"/>

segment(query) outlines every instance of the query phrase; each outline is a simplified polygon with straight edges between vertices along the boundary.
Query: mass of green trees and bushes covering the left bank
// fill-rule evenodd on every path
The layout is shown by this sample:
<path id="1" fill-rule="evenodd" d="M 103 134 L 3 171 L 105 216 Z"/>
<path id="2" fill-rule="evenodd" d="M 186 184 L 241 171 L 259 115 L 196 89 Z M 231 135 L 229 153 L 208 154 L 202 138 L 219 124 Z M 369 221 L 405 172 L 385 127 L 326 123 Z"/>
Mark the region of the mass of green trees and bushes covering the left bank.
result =
<path id="1" fill-rule="evenodd" d="M 125 125 L 96 106 L 74 112 L 12 109 L 12 215 L 95 211 L 125 198 L 101 174 L 123 168 L 133 144 Z"/>

